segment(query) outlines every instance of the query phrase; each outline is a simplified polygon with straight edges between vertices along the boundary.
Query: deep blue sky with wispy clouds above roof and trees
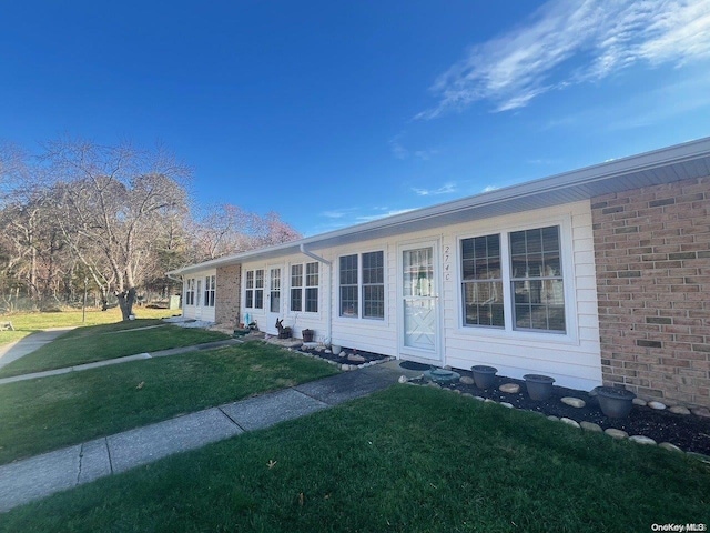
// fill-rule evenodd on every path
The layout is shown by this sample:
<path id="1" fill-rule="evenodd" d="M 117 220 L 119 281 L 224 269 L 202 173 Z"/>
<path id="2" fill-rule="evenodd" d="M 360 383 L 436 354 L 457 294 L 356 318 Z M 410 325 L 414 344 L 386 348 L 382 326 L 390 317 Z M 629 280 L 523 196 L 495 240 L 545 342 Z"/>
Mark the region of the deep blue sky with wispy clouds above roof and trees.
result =
<path id="1" fill-rule="evenodd" d="M 308 235 L 710 135 L 710 0 L 23 0 L 0 69 L 0 140 L 162 142 Z"/>

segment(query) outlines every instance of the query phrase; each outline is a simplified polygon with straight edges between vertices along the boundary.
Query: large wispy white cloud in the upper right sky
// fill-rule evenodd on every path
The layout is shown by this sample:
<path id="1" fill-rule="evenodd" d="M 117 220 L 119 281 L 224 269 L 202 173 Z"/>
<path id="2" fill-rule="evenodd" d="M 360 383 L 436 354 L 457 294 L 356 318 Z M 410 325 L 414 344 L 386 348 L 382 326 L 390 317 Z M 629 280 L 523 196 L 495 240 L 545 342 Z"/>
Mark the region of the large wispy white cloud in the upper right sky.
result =
<path id="1" fill-rule="evenodd" d="M 477 101 L 496 111 L 635 63 L 710 57 L 710 0 L 549 0 L 521 26 L 471 47 L 435 81 L 433 119 Z M 572 67 L 574 63 L 574 67 Z"/>

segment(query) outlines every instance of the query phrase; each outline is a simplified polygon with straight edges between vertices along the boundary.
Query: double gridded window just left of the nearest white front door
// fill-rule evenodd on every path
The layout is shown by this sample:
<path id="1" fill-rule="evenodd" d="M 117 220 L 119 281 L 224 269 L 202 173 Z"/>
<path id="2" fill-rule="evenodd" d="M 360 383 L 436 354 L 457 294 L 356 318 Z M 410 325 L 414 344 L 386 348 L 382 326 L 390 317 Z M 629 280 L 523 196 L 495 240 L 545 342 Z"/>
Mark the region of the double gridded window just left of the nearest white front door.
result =
<path id="1" fill-rule="evenodd" d="M 384 252 L 341 257 L 341 316 L 385 318 L 384 257 Z"/>

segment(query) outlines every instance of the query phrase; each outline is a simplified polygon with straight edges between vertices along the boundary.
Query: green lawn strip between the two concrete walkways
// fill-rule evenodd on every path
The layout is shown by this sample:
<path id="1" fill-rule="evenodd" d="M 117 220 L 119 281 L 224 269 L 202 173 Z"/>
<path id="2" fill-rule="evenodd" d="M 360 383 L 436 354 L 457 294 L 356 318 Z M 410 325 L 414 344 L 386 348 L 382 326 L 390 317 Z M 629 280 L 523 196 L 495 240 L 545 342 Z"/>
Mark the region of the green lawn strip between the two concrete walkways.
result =
<path id="1" fill-rule="evenodd" d="M 336 372 L 251 342 L 8 383 L 0 464 Z"/>

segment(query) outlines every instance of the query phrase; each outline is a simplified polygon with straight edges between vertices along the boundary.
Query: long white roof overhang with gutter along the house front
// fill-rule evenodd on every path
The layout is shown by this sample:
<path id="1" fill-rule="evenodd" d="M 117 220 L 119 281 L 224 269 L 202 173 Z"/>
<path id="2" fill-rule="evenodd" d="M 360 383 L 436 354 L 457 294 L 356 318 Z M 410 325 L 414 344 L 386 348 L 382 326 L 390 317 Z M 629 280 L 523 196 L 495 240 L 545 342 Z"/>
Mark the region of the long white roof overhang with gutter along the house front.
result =
<path id="1" fill-rule="evenodd" d="M 277 258 L 297 253 L 302 245 L 318 250 L 707 175 L 710 175 L 710 138 L 407 211 L 294 242 L 227 255 L 176 269 L 168 274 L 182 275 L 251 260 Z"/>

